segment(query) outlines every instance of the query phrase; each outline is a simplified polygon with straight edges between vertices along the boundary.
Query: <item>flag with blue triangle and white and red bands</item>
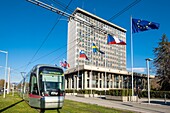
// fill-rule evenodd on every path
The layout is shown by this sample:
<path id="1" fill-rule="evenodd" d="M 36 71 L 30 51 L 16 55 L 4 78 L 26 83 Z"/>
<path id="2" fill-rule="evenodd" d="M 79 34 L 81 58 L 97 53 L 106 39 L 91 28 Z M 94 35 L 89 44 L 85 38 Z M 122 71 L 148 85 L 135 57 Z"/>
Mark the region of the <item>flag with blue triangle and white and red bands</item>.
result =
<path id="1" fill-rule="evenodd" d="M 126 45 L 126 43 L 123 40 L 120 40 L 117 37 L 113 37 L 112 35 L 107 35 L 107 44 L 120 44 L 120 45 Z"/>

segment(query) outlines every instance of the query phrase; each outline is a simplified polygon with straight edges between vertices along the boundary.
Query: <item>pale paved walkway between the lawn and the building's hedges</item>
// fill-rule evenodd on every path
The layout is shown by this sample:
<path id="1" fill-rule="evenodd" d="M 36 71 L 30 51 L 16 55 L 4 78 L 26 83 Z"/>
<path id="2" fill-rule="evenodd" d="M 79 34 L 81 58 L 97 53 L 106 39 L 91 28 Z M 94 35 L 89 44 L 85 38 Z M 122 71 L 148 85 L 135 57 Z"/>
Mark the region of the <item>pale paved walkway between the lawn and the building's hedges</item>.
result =
<path id="1" fill-rule="evenodd" d="M 151 99 L 150 104 L 148 104 L 146 98 L 139 99 L 139 102 L 120 102 L 101 98 L 83 98 L 77 96 L 66 96 L 65 98 L 68 100 L 130 110 L 138 113 L 170 113 L 170 100 L 167 100 L 165 104 L 163 99 Z"/>

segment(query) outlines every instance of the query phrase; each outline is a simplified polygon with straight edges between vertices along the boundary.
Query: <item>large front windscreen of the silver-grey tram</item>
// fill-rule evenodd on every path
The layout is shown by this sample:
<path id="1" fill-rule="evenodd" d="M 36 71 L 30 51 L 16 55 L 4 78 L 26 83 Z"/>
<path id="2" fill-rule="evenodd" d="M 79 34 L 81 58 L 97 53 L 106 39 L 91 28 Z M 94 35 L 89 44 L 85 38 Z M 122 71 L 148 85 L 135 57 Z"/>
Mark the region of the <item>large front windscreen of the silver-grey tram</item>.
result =
<path id="1" fill-rule="evenodd" d="M 64 76 L 62 73 L 48 71 L 40 73 L 40 92 L 42 96 L 61 96 L 63 95 Z"/>

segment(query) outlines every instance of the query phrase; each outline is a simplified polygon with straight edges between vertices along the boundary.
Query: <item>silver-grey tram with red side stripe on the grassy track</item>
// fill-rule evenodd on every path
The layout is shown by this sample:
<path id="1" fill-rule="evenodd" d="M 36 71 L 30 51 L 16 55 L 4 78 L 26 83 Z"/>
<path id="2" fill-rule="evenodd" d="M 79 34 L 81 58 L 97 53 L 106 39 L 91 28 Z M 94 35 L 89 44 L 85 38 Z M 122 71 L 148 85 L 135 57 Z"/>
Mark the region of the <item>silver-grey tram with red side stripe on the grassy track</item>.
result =
<path id="1" fill-rule="evenodd" d="M 51 65 L 36 65 L 18 84 L 19 95 L 31 107 L 61 109 L 64 104 L 64 72 Z"/>

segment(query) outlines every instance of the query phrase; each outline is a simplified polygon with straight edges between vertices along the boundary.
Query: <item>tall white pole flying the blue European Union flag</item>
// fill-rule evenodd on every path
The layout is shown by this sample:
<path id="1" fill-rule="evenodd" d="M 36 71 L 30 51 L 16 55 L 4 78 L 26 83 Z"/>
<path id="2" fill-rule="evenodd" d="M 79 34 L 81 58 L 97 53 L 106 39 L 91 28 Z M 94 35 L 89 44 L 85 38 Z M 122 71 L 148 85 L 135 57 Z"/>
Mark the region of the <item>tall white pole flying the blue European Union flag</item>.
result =
<path id="1" fill-rule="evenodd" d="M 131 71 L 132 71 L 132 96 L 134 96 L 134 87 L 133 87 L 133 38 L 132 38 L 132 16 L 130 17 L 130 35 L 131 35 Z M 133 98 L 133 97 L 132 97 Z M 132 99 L 133 101 L 133 99 Z"/>

